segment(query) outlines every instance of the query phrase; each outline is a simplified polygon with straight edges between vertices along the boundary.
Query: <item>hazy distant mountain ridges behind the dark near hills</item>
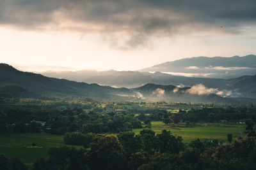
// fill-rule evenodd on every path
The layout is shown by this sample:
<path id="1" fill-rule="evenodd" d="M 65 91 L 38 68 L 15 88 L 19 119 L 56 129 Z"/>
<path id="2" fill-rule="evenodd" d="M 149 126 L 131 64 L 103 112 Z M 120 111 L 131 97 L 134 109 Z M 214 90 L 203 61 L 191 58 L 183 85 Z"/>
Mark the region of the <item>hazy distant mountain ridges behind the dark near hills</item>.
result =
<path id="1" fill-rule="evenodd" d="M 188 67 L 191 69 L 188 69 Z M 199 69 L 195 69 L 196 67 Z M 193 87 L 202 84 L 208 89 L 215 89 L 215 93 L 220 96 L 256 98 L 255 69 L 256 55 L 246 55 L 244 57 L 193 57 L 165 62 L 153 67 L 141 69 L 140 71 L 46 71 L 42 74 L 73 81 L 98 83 L 111 87 L 136 88 L 147 83 L 175 85 L 177 87 Z M 226 79 L 202 78 L 177 76 L 170 74 L 170 72 L 164 72 L 182 71 L 189 72 L 189 74 L 197 74 L 198 72 L 195 71 L 199 71 L 200 74 L 212 74 L 209 71 L 216 71 L 216 74 L 222 74 L 221 71 L 227 72 L 227 70 L 229 71 L 228 73 L 232 73 L 237 77 Z M 230 75 L 228 73 L 227 75 Z"/>

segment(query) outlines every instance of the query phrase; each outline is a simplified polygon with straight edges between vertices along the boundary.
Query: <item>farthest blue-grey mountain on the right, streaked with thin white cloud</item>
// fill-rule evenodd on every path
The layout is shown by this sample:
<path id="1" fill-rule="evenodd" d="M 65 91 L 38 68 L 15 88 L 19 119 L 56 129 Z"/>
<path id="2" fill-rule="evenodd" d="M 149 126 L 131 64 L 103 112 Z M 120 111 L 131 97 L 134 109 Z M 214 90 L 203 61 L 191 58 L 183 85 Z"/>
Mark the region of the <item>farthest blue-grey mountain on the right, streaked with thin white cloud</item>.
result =
<path id="1" fill-rule="evenodd" d="M 236 78 L 256 73 L 256 55 L 244 57 L 192 57 L 164 62 L 141 69 L 141 72 L 163 72 L 207 78 Z"/>

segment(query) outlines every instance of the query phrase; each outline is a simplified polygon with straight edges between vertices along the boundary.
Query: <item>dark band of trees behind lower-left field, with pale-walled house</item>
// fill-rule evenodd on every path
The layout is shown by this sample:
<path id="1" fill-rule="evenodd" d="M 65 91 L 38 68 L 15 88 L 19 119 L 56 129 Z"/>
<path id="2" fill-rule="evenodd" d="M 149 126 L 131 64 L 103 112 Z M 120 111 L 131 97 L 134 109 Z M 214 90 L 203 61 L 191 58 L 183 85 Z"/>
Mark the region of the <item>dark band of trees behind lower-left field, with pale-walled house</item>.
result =
<path id="1" fill-rule="evenodd" d="M 32 122 L 31 122 L 32 121 Z M 45 122 L 44 125 L 38 122 Z M 0 113 L 0 132 L 50 132 L 65 134 L 80 131 L 96 134 L 131 131 L 141 128 L 133 114 L 84 111 L 82 109 L 35 110 L 11 109 Z"/>

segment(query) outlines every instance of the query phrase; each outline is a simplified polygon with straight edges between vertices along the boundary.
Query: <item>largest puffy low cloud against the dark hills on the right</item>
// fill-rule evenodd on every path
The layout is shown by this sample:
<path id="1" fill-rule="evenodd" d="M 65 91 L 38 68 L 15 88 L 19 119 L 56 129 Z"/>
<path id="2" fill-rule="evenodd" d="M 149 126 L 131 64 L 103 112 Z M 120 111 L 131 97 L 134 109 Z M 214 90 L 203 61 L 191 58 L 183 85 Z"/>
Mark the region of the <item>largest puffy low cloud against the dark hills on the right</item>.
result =
<path id="1" fill-rule="evenodd" d="M 218 89 L 212 89 L 207 88 L 203 84 L 198 84 L 192 86 L 190 89 L 186 90 L 187 93 L 193 94 L 193 95 L 209 95 L 209 94 L 217 94 L 219 96 L 227 97 L 231 96 L 232 92 L 227 90 L 218 90 Z"/>

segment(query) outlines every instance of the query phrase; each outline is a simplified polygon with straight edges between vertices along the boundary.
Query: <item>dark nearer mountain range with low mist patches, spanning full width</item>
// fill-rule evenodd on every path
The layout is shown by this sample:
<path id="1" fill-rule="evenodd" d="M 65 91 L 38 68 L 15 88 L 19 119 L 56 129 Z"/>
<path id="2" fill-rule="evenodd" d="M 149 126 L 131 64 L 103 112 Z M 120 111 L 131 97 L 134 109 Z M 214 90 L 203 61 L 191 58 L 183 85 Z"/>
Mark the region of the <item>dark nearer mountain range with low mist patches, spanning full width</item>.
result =
<path id="1" fill-rule="evenodd" d="M 148 73 L 150 74 L 150 73 Z M 163 74 L 163 73 L 154 73 Z M 147 76 L 147 75 L 145 75 Z M 166 76 L 163 74 L 162 76 Z M 173 76 L 177 78 L 177 76 Z M 179 77 L 178 77 L 179 78 Z M 215 79 L 212 79 L 212 82 Z M 189 80 L 186 80 L 189 81 Z M 224 80 L 220 80 L 224 81 Z M 223 87 L 239 88 L 243 92 L 239 97 L 253 97 L 255 94 L 256 76 L 243 76 L 229 80 L 230 84 Z M 217 84 L 217 83 L 216 83 Z M 252 89 L 250 89 L 252 88 Z M 92 97 L 101 100 L 122 101 L 166 101 L 194 103 L 252 103 L 255 99 L 231 98 L 230 89 L 220 90 L 206 87 L 198 83 L 191 87 L 175 85 L 159 85 L 146 83 L 137 88 L 115 88 L 96 83 L 84 83 L 60 78 L 49 78 L 42 74 L 22 72 L 8 64 L 0 64 L 0 96 L 2 97 Z M 243 91 L 242 91 L 243 90 Z M 250 95 L 249 95 L 250 94 Z"/>

